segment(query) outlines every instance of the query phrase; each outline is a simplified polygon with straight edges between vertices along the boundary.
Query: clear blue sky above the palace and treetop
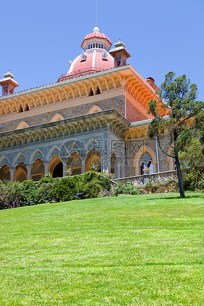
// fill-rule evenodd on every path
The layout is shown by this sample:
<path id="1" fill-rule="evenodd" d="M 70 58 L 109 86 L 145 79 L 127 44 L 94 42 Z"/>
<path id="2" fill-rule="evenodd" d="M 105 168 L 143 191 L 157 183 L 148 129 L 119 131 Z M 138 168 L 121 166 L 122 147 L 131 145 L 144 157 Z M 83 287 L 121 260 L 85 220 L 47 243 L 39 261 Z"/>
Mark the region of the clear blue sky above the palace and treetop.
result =
<path id="1" fill-rule="evenodd" d="M 0 78 L 10 68 L 19 91 L 57 81 L 95 26 L 95 2 L 1 1 Z M 97 2 L 100 32 L 121 37 L 141 76 L 159 86 L 169 71 L 185 74 L 204 100 L 204 0 Z"/>

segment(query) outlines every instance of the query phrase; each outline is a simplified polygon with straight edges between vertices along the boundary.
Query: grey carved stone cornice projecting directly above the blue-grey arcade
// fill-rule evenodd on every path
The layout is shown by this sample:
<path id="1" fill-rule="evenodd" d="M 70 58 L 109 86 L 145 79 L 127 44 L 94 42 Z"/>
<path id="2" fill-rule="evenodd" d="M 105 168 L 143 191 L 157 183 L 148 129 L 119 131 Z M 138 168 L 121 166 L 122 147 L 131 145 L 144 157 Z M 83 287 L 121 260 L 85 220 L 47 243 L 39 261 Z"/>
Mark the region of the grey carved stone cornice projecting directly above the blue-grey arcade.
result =
<path id="1" fill-rule="evenodd" d="M 0 149 L 10 150 L 11 148 L 45 143 L 67 137 L 79 137 L 83 134 L 102 132 L 104 130 L 109 130 L 123 138 L 129 125 L 130 122 L 116 110 L 81 115 L 0 133 Z"/>

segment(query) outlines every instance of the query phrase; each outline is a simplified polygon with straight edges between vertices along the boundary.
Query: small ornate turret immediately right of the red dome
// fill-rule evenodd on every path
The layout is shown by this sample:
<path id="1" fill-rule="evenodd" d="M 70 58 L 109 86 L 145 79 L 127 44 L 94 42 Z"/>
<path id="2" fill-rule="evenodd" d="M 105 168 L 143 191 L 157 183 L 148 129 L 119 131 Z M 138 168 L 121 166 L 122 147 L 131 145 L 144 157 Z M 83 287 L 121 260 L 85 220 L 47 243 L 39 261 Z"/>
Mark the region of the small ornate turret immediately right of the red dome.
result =
<path id="1" fill-rule="evenodd" d="M 125 45 L 122 43 L 121 38 L 114 45 L 115 48 L 109 52 L 114 58 L 114 67 L 126 65 L 126 59 L 131 55 L 125 50 Z"/>

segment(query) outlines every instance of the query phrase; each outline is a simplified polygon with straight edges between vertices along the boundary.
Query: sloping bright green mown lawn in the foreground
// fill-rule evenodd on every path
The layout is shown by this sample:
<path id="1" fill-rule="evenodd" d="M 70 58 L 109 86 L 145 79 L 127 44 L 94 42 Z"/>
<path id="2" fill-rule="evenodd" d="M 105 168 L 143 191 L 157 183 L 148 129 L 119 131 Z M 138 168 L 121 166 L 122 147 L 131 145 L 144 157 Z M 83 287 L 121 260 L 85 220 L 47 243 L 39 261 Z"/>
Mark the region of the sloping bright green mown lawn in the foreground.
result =
<path id="1" fill-rule="evenodd" d="M 204 194 L 0 211 L 0 306 L 204 305 Z"/>

